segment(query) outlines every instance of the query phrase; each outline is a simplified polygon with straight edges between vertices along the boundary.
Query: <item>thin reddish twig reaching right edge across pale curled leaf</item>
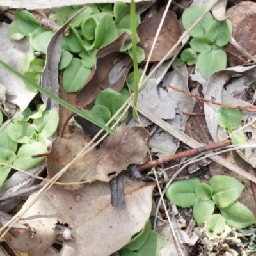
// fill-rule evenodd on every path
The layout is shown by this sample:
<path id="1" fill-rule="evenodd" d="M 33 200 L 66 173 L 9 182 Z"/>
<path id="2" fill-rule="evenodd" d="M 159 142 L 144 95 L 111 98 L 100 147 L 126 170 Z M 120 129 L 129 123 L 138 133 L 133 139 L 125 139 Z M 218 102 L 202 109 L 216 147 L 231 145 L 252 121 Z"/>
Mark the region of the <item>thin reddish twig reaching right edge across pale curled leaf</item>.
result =
<path id="1" fill-rule="evenodd" d="M 168 85 L 167 86 L 168 88 L 171 88 L 177 92 L 182 92 L 182 93 L 185 93 L 186 95 L 188 95 L 189 97 L 193 97 L 197 100 L 201 100 L 201 101 L 204 101 L 204 102 L 207 102 L 207 103 L 211 103 L 211 104 L 214 104 L 214 105 L 219 105 L 219 106 L 223 106 L 225 108 L 232 108 L 232 109 L 239 109 L 241 111 L 248 111 L 248 112 L 256 112 L 256 108 L 253 108 L 251 106 L 246 106 L 246 107 L 240 107 L 240 106 L 232 106 L 232 105 L 227 105 L 227 104 L 223 104 L 221 102 L 218 102 L 218 101 L 214 101 L 214 100 L 207 100 L 207 99 L 204 99 L 196 94 L 193 94 L 193 93 L 190 93 L 186 90 L 182 90 L 182 89 L 179 89 L 179 88 L 175 88 L 173 87 L 172 85 Z"/>

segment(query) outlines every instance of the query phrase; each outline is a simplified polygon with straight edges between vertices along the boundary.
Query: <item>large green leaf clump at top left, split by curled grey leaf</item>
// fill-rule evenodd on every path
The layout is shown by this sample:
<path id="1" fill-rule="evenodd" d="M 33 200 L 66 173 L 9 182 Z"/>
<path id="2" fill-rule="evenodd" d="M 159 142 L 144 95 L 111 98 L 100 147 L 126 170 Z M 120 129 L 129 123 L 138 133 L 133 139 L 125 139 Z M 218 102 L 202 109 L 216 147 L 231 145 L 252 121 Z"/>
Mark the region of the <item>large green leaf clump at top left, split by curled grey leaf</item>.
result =
<path id="1" fill-rule="evenodd" d="M 49 19 L 63 25 L 83 6 L 52 8 L 54 12 Z M 140 15 L 136 15 L 136 24 L 140 24 Z M 70 23 L 70 33 L 62 40 L 61 58 L 58 66 L 63 72 L 63 88 L 66 93 L 77 92 L 88 79 L 95 65 L 97 49 L 110 44 L 122 33 L 131 34 L 131 17 L 127 4 L 116 1 L 115 4 L 86 4 L 86 9 Z M 16 10 L 16 20 L 8 27 L 9 35 L 20 40 L 28 37 L 33 52 L 24 60 L 24 75 L 31 81 L 40 84 L 40 76 L 45 66 L 47 45 L 53 31 L 42 28 L 35 17 L 26 10 Z M 122 51 L 128 51 L 132 57 L 132 45 L 125 45 Z M 140 63 L 145 58 L 143 49 L 137 47 L 137 58 Z M 35 57 L 34 52 L 42 53 Z M 38 54 L 37 54 L 38 56 Z M 35 90 L 26 84 L 29 90 Z"/>

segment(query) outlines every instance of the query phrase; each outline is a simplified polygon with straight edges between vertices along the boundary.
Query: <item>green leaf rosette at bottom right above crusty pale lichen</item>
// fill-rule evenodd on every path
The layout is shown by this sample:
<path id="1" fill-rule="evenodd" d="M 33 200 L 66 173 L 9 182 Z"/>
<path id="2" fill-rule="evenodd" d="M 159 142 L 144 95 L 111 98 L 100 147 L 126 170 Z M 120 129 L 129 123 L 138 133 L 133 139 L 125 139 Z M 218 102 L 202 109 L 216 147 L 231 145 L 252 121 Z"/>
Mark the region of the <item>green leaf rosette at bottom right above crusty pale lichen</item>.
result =
<path id="1" fill-rule="evenodd" d="M 216 236 L 225 230 L 225 225 L 237 229 L 255 223 L 253 213 L 236 202 L 244 185 L 233 177 L 216 175 L 209 184 L 200 183 L 198 178 L 174 182 L 166 191 L 167 198 L 180 207 L 193 207 L 193 216 L 200 226 L 207 221 L 207 230 Z M 214 214 L 215 205 L 221 214 Z"/>

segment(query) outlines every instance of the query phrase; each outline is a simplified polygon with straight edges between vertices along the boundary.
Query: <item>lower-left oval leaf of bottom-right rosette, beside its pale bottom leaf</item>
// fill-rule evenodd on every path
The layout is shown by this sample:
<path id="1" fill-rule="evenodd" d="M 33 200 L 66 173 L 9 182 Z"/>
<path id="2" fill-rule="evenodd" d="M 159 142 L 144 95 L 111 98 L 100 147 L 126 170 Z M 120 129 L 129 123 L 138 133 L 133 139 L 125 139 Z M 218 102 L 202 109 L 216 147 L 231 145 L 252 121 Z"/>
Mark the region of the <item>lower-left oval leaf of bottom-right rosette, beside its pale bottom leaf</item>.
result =
<path id="1" fill-rule="evenodd" d="M 210 199 L 208 201 L 198 200 L 193 207 L 193 217 L 198 226 L 204 224 L 214 212 L 214 202 Z"/>

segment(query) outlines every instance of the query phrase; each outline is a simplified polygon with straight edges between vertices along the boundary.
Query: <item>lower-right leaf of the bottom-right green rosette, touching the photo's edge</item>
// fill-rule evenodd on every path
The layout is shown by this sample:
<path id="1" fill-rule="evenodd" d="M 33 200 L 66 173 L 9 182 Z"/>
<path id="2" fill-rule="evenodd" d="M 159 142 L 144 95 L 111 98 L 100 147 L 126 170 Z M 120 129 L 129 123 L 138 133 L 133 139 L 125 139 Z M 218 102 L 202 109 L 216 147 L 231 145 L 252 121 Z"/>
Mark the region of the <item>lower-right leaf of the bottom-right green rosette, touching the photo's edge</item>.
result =
<path id="1" fill-rule="evenodd" d="M 228 207 L 220 208 L 220 211 L 230 227 L 242 229 L 255 224 L 253 213 L 239 202 L 234 202 Z"/>

